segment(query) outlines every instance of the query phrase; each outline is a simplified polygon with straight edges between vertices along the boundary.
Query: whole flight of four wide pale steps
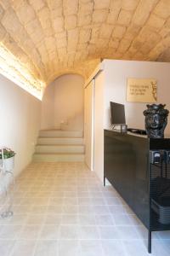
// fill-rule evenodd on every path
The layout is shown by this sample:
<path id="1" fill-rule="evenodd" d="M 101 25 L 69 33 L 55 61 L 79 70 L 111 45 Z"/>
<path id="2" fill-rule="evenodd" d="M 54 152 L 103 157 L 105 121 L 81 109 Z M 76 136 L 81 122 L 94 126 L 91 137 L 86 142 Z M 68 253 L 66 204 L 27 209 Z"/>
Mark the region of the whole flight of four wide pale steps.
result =
<path id="1" fill-rule="evenodd" d="M 42 162 L 84 161 L 82 131 L 40 131 L 33 160 Z"/>

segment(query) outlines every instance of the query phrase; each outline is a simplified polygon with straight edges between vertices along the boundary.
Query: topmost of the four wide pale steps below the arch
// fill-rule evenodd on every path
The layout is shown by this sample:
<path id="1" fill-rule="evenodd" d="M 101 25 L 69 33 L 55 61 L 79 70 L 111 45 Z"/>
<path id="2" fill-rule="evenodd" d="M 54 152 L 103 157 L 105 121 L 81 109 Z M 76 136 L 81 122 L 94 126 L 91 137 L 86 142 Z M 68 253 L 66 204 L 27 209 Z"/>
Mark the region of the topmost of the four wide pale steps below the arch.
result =
<path id="1" fill-rule="evenodd" d="M 39 137 L 82 137 L 82 131 L 41 130 Z"/>

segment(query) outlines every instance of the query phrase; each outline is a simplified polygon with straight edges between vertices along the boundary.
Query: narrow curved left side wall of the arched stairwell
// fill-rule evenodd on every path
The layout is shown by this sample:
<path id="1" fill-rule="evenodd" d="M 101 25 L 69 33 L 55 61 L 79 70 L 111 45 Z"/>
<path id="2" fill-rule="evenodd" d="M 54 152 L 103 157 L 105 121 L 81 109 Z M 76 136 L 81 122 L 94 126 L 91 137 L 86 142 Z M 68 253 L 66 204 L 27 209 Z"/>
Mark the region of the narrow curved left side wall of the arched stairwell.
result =
<path id="1" fill-rule="evenodd" d="M 42 97 L 41 129 L 54 128 L 54 83 L 49 84 Z"/>

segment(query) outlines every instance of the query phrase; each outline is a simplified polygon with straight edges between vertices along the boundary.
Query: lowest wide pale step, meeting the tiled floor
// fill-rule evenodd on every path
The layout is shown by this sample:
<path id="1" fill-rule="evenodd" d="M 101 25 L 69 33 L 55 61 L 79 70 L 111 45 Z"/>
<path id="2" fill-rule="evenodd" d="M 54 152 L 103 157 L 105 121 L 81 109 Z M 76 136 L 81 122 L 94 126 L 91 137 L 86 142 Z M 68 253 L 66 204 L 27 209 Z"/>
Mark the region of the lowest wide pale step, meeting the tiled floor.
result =
<path id="1" fill-rule="evenodd" d="M 34 161 L 41 162 L 75 162 L 84 161 L 84 154 L 49 154 L 49 153 L 41 153 L 33 155 Z"/>

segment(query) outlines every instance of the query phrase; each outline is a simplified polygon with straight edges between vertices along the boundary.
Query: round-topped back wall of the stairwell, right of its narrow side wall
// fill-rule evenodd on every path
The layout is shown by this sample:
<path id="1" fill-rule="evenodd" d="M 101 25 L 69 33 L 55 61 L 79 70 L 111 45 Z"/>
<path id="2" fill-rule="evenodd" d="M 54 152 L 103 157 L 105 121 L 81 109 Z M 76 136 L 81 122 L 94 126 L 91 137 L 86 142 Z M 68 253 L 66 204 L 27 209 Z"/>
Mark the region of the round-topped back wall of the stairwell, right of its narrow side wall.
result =
<path id="1" fill-rule="evenodd" d="M 84 79 L 67 74 L 54 81 L 54 126 L 71 124 L 72 130 L 83 130 Z"/>

